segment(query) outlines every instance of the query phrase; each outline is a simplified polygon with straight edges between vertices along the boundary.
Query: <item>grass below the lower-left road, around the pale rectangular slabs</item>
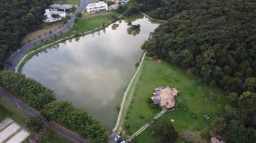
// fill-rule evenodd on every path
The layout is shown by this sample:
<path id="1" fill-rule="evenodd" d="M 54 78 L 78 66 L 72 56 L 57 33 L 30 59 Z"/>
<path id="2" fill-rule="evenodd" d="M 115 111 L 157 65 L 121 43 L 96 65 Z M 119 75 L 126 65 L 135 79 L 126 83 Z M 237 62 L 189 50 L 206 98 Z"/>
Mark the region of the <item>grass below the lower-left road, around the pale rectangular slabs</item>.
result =
<path id="1" fill-rule="evenodd" d="M 15 107 L 9 101 L 5 100 L 0 95 L 0 122 L 5 119 L 5 117 L 9 117 L 12 120 L 14 120 L 16 123 L 18 123 L 20 126 L 25 126 L 24 122 L 26 118 L 29 116 L 24 113 L 24 111 L 20 110 L 18 107 Z M 49 135 L 46 138 L 49 142 L 63 142 L 63 143 L 69 143 L 67 138 L 49 130 Z M 29 142 L 29 139 L 26 139 L 26 142 Z M 45 140 L 42 142 L 46 142 Z"/>

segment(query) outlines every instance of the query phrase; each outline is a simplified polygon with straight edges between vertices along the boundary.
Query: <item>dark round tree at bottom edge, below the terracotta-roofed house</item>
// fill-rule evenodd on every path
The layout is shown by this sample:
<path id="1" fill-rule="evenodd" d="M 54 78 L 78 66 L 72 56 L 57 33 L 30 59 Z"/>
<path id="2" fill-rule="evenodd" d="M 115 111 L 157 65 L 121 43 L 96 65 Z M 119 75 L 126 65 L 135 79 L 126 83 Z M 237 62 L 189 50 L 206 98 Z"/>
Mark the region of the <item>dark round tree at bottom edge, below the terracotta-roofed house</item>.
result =
<path id="1" fill-rule="evenodd" d="M 162 143 L 172 143 L 178 138 L 178 133 L 172 126 L 172 123 L 164 120 L 155 120 L 148 132 Z"/>

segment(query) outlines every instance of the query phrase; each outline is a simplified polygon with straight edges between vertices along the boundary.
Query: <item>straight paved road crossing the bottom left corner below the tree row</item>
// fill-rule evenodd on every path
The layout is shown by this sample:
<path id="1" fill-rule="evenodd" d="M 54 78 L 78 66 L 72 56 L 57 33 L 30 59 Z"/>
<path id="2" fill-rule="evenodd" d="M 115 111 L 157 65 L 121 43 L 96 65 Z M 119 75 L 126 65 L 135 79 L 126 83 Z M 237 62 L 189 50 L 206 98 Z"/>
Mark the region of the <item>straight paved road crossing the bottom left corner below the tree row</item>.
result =
<path id="1" fill-rule="evenodd" d="M 16 97 L 13 97 L 13 95 L 11 95 L 11 93 L 6 91 L 3 87 L 0 87 L 0 94 L 5 99 L 7 99 L 9 102 L 11 102 L 13 105 L 15 105 L 18 108 L 22 109 L 24 112 L 28 113 L 29 115 L 32 115 L 33 117 L 38 117 L 41 120 L 44 120 L 44 117 L 42 117 L 42 115 L 40 115 L 40 113 L 38 111 L 36 111 L 32 107 L 26 105 L 26 103 L 20 101 L 20 99 L 17 99 Z M 71 132 L 70 130 L 67 130 L 63 126 L 60 126 L 59 124 L 57 124 L 57 123 L 55 123 L 53 121 L 48 122 L 48 126 L 49 126 L 49 128 L 51 128 L 51 130 L 54 130 L 55 132 L 65 136 L 66 138 L 69 138 L 69 140 L 72 140 L 73 142 L 79 142 L 79 143 L 80 142 L 81 143 L 82 142 L 86 142 L 86 140 L 80 138 L 74 132 Z"/>

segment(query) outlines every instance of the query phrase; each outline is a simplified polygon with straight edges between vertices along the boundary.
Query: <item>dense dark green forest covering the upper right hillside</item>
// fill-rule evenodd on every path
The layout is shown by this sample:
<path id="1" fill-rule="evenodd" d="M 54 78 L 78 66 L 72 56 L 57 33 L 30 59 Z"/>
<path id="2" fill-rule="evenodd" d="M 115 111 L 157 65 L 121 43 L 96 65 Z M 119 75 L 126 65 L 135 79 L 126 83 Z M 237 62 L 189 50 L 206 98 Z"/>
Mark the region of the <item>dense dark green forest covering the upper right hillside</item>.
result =
<path id="1" fill-rule="evenodd" d="M 255 91 L 256 2 L 170 1 L 174 14 L 141 47 L 227 91 Z M 171 8 L 170 8 L 171 9 Z"/>

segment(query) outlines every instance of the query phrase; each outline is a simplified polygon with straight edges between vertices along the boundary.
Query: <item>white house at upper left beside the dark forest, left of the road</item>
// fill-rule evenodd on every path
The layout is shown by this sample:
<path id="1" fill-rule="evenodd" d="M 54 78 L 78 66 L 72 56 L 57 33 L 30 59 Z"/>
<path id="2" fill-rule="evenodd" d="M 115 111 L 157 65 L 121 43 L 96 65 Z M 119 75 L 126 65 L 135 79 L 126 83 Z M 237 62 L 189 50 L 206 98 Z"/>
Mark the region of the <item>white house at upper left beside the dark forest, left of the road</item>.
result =
<path id="1" fill-rule="evenodd" d="M 59 15 L 59 17 L 53 17 L 52 15 Z M 57 20 L 61 20 L 63 17 L 66 17 L 67 13 L 63 12 L 63 11 L 57 11 L 55 9 L 45 9 L 45 13 L 44 16 L 46 16 L 46 19 L 44 20 L 44 22 L 52 22 L 52 21 L 57 21 Z"/>

